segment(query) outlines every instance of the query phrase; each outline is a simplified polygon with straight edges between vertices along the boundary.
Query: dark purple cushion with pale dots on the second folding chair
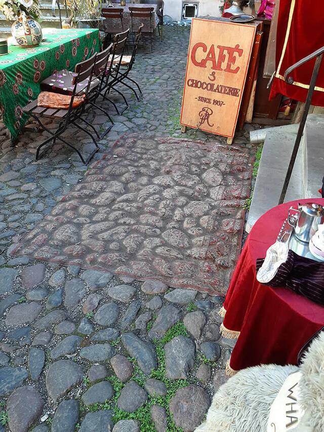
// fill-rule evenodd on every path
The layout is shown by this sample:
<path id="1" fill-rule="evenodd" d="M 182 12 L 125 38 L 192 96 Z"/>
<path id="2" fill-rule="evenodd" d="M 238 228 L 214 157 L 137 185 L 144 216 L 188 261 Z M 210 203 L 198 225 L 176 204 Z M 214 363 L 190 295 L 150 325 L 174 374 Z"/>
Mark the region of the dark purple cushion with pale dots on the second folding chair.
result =
<path id="1" fill-rule="evenodd" d="M 73 78 L 77 75 L 76 72 L 70 72 L 63 69 L 53 73 L 41 83 L 41 90 L 44 92 L 54 92 L 63 95 L 72 95 L 74 84 Z M 85 92 L 89 83 L 89 78 L 78 83 L 76 94 Z M 95 79 L 90 84 L 90 91 L 99 85 L 99 80 Z"/>

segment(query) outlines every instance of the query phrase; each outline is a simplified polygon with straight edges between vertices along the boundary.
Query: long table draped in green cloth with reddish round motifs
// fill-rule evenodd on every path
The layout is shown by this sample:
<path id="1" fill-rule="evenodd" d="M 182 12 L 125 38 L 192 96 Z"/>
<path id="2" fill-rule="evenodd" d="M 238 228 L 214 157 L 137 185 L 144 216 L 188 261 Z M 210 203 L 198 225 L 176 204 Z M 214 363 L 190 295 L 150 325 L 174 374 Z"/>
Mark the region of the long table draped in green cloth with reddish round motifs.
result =
<path id="1" fill-rule="evenodd" d="M 9 45 L 8 49 L 0 57 L 0 110 L 15 141 L 28 119 L 22 108 L 37 98 L 41 82 L 56 70 L 73 70 L 76 63 L 98 52 L 99 30 L 43 30 L 43 41 L 37 47 Z"/>

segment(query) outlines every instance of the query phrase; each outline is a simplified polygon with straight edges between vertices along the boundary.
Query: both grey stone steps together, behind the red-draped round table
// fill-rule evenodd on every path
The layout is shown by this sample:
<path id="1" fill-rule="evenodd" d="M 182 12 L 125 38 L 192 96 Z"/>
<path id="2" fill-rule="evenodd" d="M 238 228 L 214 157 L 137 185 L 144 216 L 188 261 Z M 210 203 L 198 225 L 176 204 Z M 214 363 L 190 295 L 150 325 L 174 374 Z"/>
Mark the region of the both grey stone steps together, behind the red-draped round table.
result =
<path id="1" fill-rule="evenodd" d="M 279 201 L 299 125 L 269 129 L 263 146 L 246 230 Z M 324 115 L 309 114 L 285 202 L 319 198 L 324 176 Z"/>

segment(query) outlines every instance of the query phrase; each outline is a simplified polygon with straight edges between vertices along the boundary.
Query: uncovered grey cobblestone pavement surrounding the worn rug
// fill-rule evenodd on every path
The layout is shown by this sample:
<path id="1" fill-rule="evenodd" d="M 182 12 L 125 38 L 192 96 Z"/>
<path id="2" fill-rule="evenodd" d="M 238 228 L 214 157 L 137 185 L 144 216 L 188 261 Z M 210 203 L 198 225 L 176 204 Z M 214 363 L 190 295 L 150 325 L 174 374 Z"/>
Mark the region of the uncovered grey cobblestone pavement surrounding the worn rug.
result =
<path id="1" fill-rule="evenodd" d="M 188 36 L 187 27 L 166 27 L 153 53 L 138 55 L 133 76 L 144 99 L 128 95 L 130 109 L 113 116 L 95 159 L 127 131 L 179 134 Z M 89 120 L 105 127 L 101 115 Z M 65 135 L 91 151 L 80 132 Z M 12 258 L 86 170 L 58 144 L 35 163 L 45 137 L 26 132 L 12 147 L 0 130 L 0 431 L 193 430 L 226 379 L 233 345 L 219 332 L 223 298 Z M 235 143 L 250 148 L 244 131 Z"/>

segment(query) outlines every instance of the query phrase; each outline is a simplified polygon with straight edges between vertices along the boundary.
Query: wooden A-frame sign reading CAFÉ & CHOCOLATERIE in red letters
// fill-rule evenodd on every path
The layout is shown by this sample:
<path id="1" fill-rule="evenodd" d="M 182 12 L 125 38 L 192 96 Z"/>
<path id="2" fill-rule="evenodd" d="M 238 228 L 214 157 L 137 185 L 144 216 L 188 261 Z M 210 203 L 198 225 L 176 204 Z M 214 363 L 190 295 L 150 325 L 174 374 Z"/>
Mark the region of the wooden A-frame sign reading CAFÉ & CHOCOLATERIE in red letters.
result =
<path id="1" fill-rule="evenodd" d="M 256 26 L 194 18 L 180 124 L 234 136 Z"/>

